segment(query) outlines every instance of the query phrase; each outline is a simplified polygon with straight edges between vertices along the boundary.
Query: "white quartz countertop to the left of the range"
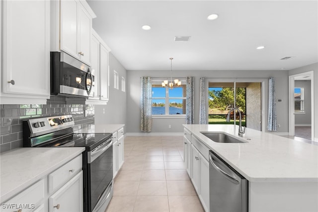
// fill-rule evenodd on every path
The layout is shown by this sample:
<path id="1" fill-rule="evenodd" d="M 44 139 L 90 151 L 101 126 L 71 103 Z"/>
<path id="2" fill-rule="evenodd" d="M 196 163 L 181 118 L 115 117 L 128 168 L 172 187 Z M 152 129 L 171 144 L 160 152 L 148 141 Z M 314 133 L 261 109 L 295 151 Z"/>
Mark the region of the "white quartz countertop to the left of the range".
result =
<path id="1" fill-rule="evenodd" d="M 80 155 L 84 147 L 24 147 L 0 154 L 0 202 Z"/>

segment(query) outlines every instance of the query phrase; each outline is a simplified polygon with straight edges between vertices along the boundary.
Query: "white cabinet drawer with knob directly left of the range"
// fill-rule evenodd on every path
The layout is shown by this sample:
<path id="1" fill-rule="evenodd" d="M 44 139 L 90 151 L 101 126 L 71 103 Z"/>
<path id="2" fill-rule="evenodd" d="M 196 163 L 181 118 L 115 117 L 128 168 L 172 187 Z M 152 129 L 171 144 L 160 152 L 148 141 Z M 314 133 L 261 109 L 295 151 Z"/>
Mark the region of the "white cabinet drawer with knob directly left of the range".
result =
<path id="1" fill-rule="evenodd" d="M 74 177 L 81 170 L 81 168 L 82 155 L 79 155 L 67 164 L 49 174 L 49 194 Z"/>

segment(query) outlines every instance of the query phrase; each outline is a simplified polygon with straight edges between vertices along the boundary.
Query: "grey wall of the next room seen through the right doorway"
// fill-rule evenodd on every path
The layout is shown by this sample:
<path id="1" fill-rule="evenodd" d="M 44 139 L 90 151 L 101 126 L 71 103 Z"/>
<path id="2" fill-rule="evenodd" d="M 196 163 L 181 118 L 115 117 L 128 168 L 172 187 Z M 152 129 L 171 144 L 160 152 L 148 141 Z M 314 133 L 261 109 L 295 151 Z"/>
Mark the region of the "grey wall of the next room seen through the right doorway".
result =
<path id="1" fill-rule="evenodd" d="M 295 88 L 304 88 L 304 105 L 306 114 L 295 114 L 295 126 L 311 126 L 312 92 L 311 81 L 295 80 Z"/>

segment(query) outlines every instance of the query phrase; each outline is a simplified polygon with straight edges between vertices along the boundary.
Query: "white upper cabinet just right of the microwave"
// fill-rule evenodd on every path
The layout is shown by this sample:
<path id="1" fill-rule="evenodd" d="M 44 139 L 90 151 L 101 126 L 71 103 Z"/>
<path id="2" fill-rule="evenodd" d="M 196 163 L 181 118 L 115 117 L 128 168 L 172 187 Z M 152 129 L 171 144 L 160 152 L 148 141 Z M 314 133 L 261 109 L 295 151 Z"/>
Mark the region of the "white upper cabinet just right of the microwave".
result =
<path id="1" fill-rule="evenodd" d="M 86 104 L 105 105 L 109 100 L 109 52 L 110 48 L 99 35 L 92 30 L 91 67 L 95 71 L 94 97 L 89 97 Z"/>

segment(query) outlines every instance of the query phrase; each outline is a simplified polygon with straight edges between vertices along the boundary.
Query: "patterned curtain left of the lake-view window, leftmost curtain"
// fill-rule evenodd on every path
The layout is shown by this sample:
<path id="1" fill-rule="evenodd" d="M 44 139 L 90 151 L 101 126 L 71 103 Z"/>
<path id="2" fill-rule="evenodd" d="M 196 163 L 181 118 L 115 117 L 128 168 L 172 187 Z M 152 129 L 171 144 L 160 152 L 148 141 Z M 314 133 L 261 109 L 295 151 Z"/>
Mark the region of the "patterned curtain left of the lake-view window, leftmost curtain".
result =
<path id="1" fill-rule="evenodd" d="M 141 78 L 140 112 L 140 129 L 144 132 L 150 132 L 152 127 L 152 84 L 150 77 Z"/>

